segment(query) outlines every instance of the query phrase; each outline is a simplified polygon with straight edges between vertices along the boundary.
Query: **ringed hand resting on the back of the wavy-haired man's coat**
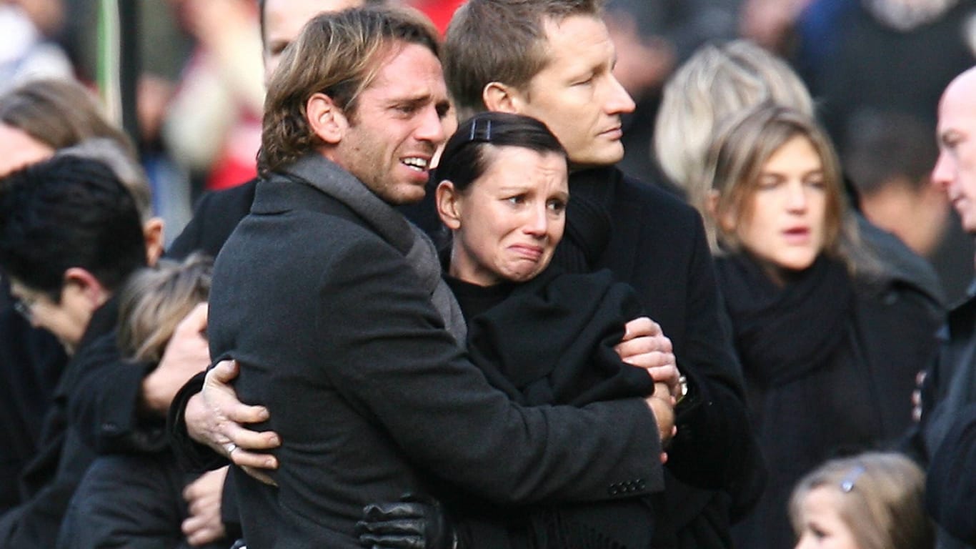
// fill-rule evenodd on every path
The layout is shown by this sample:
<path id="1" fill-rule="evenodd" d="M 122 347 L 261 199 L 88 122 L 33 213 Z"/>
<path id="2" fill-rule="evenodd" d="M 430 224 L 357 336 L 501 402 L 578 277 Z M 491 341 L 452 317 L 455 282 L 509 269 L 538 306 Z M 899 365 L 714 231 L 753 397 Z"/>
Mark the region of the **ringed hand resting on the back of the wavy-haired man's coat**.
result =
<path id="1" fill-rule="evenodd" d="M 264 406 L 249 406 L 237 399 L 230 381 L 237 377 L 238 365 L 222 360 L 209 372 L 203 391 L 186 402 L 186 432 L 198 443 L 207 444 L 230 458 L 252 477 L 274 484 L 260 469 L 276 469 L 278 461 L 266 450 L 281 445 L 277 433 L 256 432 L 243 426 L 260 423 L 268 418 Z"/>

